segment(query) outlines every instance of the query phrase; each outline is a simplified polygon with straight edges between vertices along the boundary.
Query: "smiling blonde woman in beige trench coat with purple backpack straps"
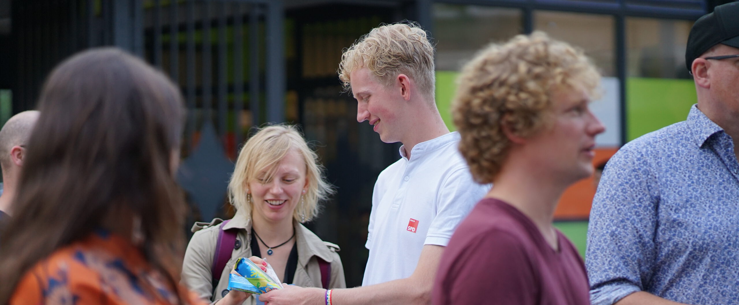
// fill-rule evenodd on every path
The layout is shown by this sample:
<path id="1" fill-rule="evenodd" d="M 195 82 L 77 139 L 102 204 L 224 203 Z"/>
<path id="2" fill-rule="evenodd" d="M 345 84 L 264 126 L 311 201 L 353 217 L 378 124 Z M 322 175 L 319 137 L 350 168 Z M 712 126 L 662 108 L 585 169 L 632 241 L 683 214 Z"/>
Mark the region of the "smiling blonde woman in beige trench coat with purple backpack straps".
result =
<path id="1" fill-rule="evenodd" d="M 246 295 L 226 287 L 237 258 L 258 256 L 266 258 L 283 283 L 346 287 L 339 247 L 302 225 L 316 218 L 319 201 L 333 192 L 321 170 L 318 155 L 296 127 L 274 125 L 253 135 L 239 153 L 228 184 L 236 215 L 194 225 L 183 263 L 185 284 L 211 302 L 224 298 L 219 304 L 255 304 L 254 298 L 245 300 Z M 225 253 L 225 266 L 215 267 L 222 254 L 217 244 L 228 240 L 228 232 L 235 232 L 234 247 L 226 248 L 230 253 Z"/>

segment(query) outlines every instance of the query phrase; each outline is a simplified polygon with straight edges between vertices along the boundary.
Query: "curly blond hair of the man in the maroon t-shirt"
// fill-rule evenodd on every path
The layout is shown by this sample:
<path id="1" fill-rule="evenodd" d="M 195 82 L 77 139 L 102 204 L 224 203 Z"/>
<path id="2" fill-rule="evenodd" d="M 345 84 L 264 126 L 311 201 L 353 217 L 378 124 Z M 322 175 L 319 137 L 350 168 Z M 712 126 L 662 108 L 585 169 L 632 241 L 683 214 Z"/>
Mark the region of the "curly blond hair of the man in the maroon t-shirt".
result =
<path id="1" fill-rule="evenodd" d="M 600 74 L 582 50 L 535 32 L 481 50 L 457 82 L 460 153 L 475 181 L 491 183 L 511 147 L 503 126 L 522 138 L 539 133 L 551 125 L 554 90 L 582 87 L 594 98 Z"/>

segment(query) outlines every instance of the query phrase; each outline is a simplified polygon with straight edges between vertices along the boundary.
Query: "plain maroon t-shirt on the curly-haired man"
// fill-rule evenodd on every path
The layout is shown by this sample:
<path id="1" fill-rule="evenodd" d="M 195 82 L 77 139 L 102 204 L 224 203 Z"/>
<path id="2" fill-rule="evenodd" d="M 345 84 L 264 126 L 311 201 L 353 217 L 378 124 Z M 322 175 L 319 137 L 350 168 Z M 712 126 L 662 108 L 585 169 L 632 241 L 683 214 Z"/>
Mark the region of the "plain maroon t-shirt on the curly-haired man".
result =
<path id="1" fill-rule="evenodd" d="M 559 252 L 522 212 L 481 200 L 457 227 L 441 258 L 435 305 L 589 305 L 588 275 L 557 231 Z"/>

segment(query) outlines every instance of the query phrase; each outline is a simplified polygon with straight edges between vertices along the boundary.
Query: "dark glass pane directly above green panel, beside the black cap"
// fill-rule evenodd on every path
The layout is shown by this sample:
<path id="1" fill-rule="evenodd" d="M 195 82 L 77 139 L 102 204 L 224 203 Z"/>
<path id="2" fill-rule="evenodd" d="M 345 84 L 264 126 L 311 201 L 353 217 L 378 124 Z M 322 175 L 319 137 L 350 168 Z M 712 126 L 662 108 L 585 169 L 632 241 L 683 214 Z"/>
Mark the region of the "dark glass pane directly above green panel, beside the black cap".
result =
<path id="1" fill-rule="evenodd" d="M 627 75 L 690 78 L 685 44 L 692 21 L 627 18 Z"/>

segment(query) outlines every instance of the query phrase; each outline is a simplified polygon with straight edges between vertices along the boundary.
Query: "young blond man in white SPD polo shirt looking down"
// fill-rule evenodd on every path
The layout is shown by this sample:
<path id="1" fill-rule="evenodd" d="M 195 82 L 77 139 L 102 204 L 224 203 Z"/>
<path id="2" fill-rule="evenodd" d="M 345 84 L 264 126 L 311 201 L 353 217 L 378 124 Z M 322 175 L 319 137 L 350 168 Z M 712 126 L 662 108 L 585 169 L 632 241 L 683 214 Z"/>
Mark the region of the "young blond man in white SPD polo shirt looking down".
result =
<path id="1" fill-rule="evenodd" d="M 434 47 L 412 24 L 373 29 L 342 56 L 339 77 L 357 99 L 357 121 L 401 158 L 372 194 L 363 286 L 287 287 L 260 300 L 294 304 L 429 304 L 439 258 L 457 224 L 489 186 L 475 183 L 434 99 Z"/>

